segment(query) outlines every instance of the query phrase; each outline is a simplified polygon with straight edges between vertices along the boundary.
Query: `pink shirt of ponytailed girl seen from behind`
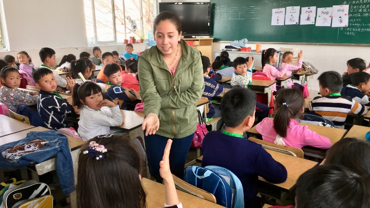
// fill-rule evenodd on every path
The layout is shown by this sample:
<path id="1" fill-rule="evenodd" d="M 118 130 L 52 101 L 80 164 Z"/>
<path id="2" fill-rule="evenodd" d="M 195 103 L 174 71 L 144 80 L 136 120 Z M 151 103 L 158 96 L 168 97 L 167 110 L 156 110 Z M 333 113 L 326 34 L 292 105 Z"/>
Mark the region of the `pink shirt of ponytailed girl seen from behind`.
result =
<path id="1" fill-rule="evenodd" d="M 257 132 L 262 135 L 264 141 L 274 143 L 276 139 L 276 131 L 274 129 L 274 120 L 270 118 L 264 118 L 256 126 Z M 330 131 L 330 127 L 328 127 Z M 307 126 L 300 126 L 299 122 L 291 119 L 287 137 L 283 138 L 285 145 L 302 148 L 304 146 L 313 146 L 320 149 L 329 149 L 332 146 L 330 139 L 327 137 L 320 136 L 316 132 L 308 129 Z"/>

